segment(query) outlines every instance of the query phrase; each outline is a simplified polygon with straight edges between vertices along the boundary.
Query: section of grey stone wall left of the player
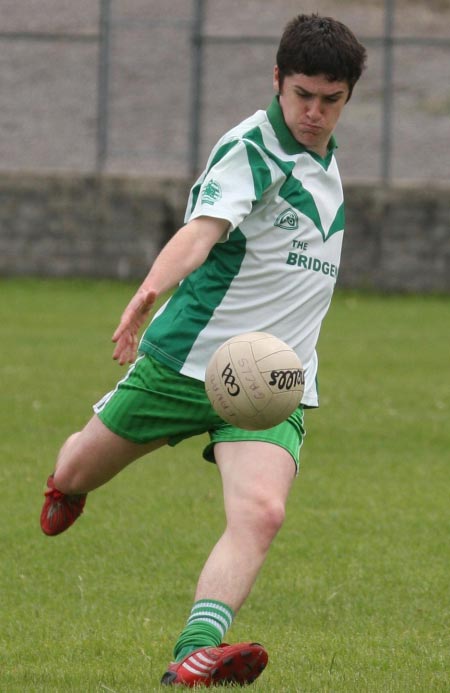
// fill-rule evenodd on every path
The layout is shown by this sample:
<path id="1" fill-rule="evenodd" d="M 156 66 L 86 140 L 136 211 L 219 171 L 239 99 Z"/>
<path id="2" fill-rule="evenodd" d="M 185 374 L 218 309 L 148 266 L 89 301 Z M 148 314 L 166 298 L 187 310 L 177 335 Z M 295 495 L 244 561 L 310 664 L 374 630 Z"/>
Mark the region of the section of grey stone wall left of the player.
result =
<path id="1" fill-rule="evenodd" d="M 0 276 L 139 278 L 182 222 L 188 184 L 0 176 Z"/>

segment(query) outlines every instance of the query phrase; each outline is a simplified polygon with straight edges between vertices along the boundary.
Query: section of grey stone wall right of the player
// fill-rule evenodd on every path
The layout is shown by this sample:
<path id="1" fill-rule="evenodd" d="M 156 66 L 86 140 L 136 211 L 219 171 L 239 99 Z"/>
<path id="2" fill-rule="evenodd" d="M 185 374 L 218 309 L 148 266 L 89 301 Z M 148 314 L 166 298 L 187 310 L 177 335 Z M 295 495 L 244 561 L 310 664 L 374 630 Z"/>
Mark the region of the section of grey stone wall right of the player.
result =
<path id="1" fill-rule="evenodd" d="M 450 292 L 450 186 L 346 186 L 339 284 Z"/>

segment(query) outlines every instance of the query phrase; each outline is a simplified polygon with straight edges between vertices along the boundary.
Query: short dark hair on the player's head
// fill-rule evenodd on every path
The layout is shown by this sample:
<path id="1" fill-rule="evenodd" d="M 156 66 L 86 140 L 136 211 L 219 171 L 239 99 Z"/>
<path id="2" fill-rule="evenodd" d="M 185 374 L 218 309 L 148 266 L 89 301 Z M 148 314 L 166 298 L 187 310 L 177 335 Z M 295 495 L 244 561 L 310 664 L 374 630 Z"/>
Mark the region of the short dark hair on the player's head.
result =
<path id="1" fill-rule="evenodd" d="M 279 86 L 287 75 L 326 75 L 347 82 L 350 98 L 366 62 L 366 49 L 350 29 L 332 17 L 299 14 L 286 26 L 277 52 Z"/>

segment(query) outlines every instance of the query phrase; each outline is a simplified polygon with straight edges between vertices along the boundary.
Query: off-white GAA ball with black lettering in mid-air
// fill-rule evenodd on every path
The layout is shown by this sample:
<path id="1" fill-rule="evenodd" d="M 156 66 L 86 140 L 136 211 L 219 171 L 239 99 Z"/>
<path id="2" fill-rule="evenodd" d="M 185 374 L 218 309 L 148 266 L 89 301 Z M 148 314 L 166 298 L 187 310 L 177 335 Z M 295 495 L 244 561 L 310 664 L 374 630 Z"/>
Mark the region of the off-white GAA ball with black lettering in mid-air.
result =
<path id="1" fill-rule="evenodd" d="M 300 404 L 302 364 L 285 342 L 266 332 L 248 332 L 224 342 L 205 377 L 208 398 L 219 416 L 250 431 L 285 421 Z"/>

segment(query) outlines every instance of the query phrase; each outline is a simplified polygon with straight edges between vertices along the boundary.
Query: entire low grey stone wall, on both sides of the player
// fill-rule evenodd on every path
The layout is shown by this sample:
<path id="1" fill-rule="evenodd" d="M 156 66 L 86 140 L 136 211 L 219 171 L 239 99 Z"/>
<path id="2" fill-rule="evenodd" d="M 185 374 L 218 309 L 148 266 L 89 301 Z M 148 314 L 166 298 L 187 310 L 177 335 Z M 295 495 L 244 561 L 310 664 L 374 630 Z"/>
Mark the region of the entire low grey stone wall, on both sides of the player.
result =
<path id="1" fill-rule="evenodd" d="M 347 184 L 338 284 L 450 292 L 450 187 Z M 0 176 L 0 276 L 142 278 L 182 223 L 189 183 Z"/>

